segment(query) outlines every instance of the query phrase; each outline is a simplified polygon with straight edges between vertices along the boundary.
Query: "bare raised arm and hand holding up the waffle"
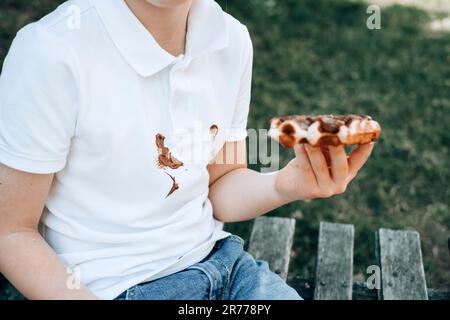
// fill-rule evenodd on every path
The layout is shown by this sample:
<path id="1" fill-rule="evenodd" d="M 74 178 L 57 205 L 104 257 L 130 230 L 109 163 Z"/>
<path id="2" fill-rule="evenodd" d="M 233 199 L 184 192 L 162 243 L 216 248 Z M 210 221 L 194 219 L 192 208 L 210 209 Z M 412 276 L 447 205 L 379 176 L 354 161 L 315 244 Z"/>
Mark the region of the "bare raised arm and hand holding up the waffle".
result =
<path id="1" fill-rule="evenodd" d="M 217 161 L 218 158 L 222 159 L 233 148 L 237 149 L 233 152 L 235 157 L 231 157 L 233 161 L 219 164 L 223 161 Z M 372 149 L 373 144 L 362 145 L 347 157 L 343 147 L 330 147 L 329 169 L 320 148 L 299 145 L 295 148 L 295 158 L 286 167 L 262 174 L 237 161 L 246 152 L 245 141 L 227 143 L 208 166 L 209 198 L 214 215 L 223 222 L 244 221 L 293 201 L 341 194 L 367 161 Z M 225 156 L 225 159 L 228 158 Z"/>

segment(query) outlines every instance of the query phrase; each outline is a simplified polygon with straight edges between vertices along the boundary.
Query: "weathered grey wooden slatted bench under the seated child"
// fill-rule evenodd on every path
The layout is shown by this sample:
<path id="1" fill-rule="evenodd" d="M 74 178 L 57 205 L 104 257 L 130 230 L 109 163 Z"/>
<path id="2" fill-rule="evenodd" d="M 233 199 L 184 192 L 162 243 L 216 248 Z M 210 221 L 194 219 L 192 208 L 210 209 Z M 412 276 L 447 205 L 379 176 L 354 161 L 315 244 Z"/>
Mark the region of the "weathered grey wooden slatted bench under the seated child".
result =
<path id="1" fill-rule="evenodd" d="M 415 231 L 376 232 L 378 265 L 374 266 L 372 289 L 366 282 L 353 281 L 353 225 L 320 224 L 314 278 L 288 273 L 294 232 L 295 219 L 257 218 L 248 251 L 256 259 L 267 261 L 271 270 L 305 300 L 450 300 L 450 292 L 427 288 L 420 237 Z M 22 298 L 7 282 L 0 287 L 0 300 Z"/>

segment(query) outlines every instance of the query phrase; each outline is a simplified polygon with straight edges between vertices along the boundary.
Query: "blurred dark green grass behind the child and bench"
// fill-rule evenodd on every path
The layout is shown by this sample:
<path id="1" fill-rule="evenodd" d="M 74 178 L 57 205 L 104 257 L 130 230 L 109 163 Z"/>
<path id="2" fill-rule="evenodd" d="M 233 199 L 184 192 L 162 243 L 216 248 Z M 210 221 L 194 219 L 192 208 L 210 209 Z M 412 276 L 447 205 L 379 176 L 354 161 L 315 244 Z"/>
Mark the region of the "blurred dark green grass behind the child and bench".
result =
<path id="1" fill-rule="evenodd" d="M 2 0 L 0 62 L 19 28 L 61 2 Z M 367 113 L 384 129 L 345 195 L 270 213 L 297 219 L 291 272 L 313 275 L 322 220 L 355 225 L 357 279 L 376 263 L 378 228 L 415 229 L 428 285 L 449 290 L 450 32 L 427 27 L 444 13 L 391 6 L 382 10 L 382 29 L 368 30 L 367 4 L 355 1 L 218 2 L 253 38 L 250 127 L 267 128 L 274 115 Z M 281 156 L 286 163 L 292 153 Z M 227 228 L 248 239 L 251 222 Z"/>

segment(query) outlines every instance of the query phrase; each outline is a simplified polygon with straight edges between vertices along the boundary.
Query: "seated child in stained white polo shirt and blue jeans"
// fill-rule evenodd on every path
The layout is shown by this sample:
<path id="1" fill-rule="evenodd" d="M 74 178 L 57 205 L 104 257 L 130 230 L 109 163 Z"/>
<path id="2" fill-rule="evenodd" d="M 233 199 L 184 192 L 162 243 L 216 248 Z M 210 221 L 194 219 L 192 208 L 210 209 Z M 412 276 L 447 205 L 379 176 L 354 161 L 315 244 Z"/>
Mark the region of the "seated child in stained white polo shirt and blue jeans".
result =
<path id="1" fill-rule="evenodd" d="M 247 169 L 252 59 L 213 0 L 71 0 L 22 29 L 0 80 L 0 272 L 29 299 L 301 299 L 222 222 L 344 192 L 373 145 Z"/>

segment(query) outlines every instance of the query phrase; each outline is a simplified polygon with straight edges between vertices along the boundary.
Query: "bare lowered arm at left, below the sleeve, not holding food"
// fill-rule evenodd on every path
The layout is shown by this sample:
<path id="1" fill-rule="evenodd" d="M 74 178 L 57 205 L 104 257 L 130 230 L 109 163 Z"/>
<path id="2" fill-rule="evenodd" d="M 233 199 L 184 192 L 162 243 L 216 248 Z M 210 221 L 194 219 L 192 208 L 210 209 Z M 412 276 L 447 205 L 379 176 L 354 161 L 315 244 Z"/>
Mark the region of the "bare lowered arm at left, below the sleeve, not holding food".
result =
<path id="1" fill-rule="evenodd" d="M 52 180 L 0 164 L 0 272 L 28 299 L 96 299 L 67 287 L 70 274 L 37 231 Z"/>

